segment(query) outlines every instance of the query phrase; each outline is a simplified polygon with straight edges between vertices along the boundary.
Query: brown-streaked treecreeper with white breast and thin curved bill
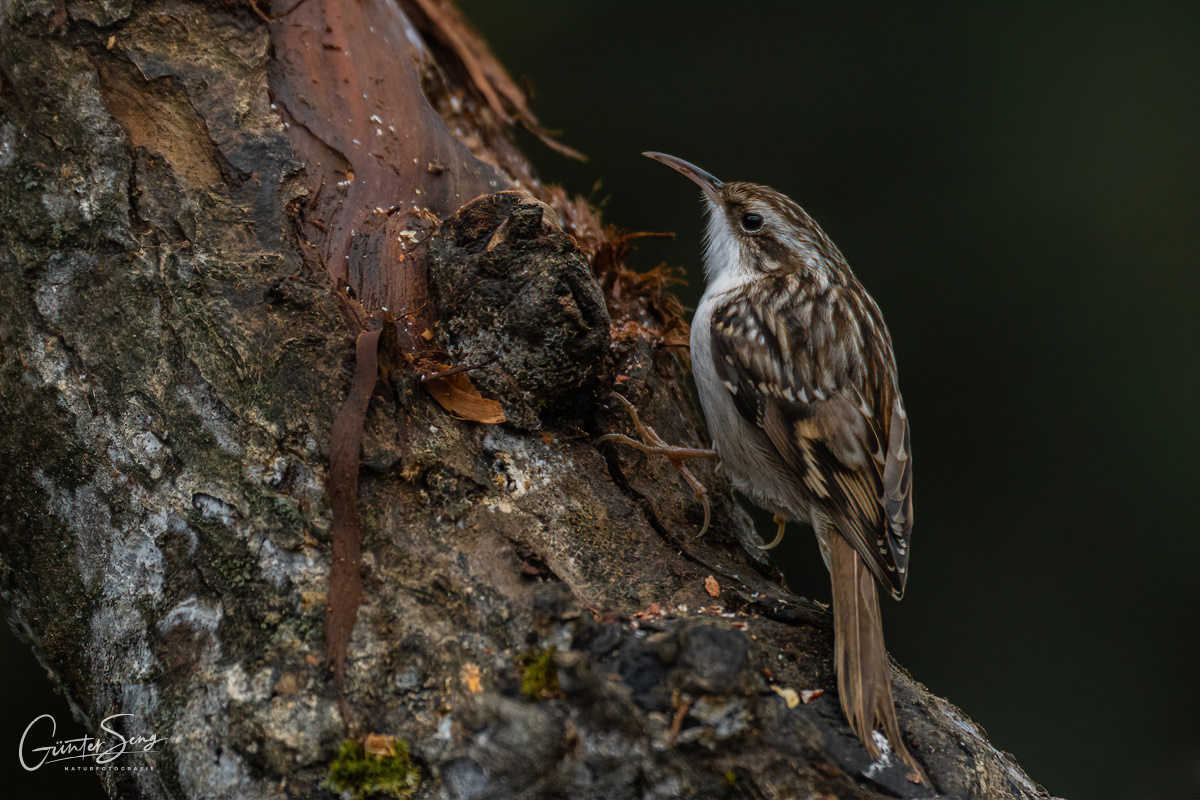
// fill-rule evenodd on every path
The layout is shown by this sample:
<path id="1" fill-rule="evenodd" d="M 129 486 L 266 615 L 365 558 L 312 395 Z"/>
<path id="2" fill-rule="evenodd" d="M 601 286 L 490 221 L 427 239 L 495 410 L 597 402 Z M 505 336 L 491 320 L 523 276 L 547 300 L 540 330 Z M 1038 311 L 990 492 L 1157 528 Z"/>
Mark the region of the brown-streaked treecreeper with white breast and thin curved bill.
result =
<path id="1" fill-rule="evenodd" d="M 872 759 L 881 730 L 924 782 L 896 720 L 877 591 L 904 595 L 912 536 L 908 417 L 883 315 L 786 194 L 643 155 L 697 184 L 708 213 L 691 363 L 719 469 L 774 512 L 762 549 L 788 521 L 811 524 L 833 587 L 842 711 Z"/>

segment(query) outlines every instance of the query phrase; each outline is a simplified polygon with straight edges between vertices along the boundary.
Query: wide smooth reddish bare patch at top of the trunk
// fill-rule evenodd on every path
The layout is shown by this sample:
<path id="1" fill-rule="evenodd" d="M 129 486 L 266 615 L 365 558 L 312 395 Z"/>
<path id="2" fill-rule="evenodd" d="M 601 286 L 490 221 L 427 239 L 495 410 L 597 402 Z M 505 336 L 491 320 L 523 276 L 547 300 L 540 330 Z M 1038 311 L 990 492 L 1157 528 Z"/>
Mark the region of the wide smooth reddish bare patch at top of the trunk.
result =
<path id="1" fill-rule="evenodd" d="M 410 218 L 446 217 L 509 179 L 430 106 L 421 70 L 437 70 L 433 55 L 395 2 L 310 0 L 272 23 L 271 43 L 271 90 L 305 161 L 305 218 L 320 225 L 306 235 L 365 308 L 416 311 L 397 305 L 404 284 L 424 281 L 395 258 L 408 249 L 394 247 L 397 235 Z"/>

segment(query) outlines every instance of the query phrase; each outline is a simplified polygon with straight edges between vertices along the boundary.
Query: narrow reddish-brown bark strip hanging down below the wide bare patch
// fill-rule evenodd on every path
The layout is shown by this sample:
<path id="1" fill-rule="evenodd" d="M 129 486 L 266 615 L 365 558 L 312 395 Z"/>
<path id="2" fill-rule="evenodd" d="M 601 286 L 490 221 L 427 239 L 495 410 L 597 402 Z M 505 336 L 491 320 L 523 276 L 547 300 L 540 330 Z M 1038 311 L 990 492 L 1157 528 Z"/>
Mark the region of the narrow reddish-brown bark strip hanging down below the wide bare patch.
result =
<path id="1" fill-rule="evenodd" d="M 383 329 L 364 331 L 355 342 L 354 381 L 334 421 L 329 456 L 329 503 L 334 511 L 334 564 L 329 577 L 325 618 L 326 658 L 334 667 L 342 722 L 349 724 L 342 679 L 346 650 L 362 597 L 362 542 L 359 531 L 359 451 L 362 420 L 379 373 L 378 348 Z"/>

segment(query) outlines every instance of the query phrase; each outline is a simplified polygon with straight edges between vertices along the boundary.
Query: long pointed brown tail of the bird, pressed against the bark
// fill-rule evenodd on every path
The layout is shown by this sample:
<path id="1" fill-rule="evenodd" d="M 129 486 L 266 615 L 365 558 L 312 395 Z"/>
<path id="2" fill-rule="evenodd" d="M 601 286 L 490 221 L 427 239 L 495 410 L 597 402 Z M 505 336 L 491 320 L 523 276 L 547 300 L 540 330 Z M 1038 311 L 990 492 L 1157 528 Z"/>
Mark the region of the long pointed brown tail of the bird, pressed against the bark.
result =
<path id="1" fill-rule="evenodd" d="M 900 738 L 875 577 L 841 535 L 829 531 L 827 542 L 833 579 L 834 668 L 841 710 L 871 758 L 880 757 L 871 735 L 880 728 L 900 760 L 928 784 Z"/>

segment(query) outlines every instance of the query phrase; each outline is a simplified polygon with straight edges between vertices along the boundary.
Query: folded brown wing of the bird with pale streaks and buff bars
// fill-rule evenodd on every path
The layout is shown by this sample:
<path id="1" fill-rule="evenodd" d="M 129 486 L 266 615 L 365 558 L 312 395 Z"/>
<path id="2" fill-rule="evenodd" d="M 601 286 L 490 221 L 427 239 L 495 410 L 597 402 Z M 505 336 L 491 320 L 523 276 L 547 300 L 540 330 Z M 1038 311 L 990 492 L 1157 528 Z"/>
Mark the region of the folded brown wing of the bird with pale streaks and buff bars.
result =
<path id="1" fill-rule="evenodd" d="M 766 434 L 802 497 L 899 597 L 912 530 L 908 420 L 887 329 L 868 303 L 732 293 L 712 314 L 712 357 L 738 413 Z M 874 318 L 864 323 L 856 311 Z"/>

